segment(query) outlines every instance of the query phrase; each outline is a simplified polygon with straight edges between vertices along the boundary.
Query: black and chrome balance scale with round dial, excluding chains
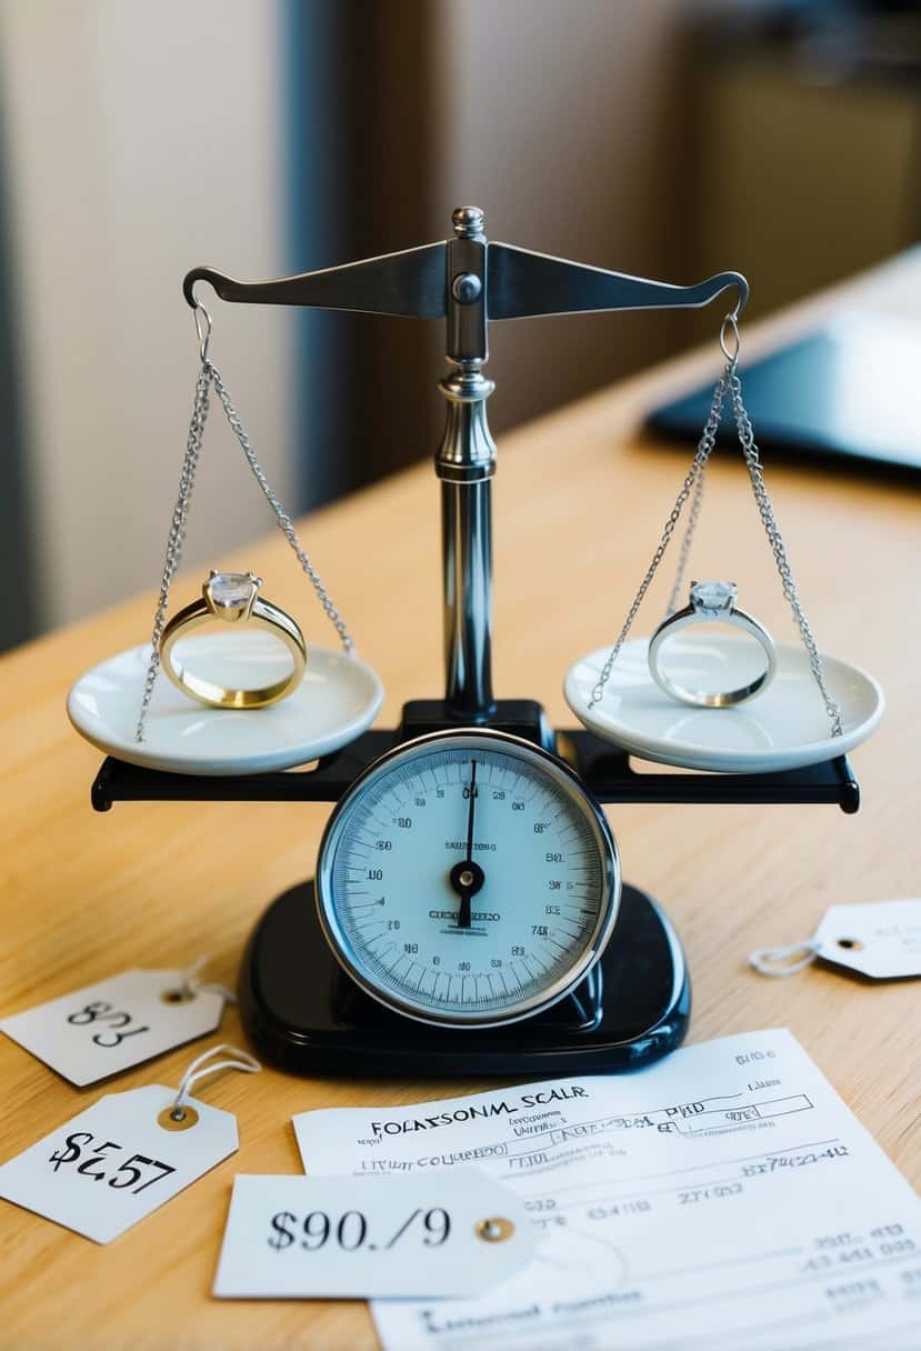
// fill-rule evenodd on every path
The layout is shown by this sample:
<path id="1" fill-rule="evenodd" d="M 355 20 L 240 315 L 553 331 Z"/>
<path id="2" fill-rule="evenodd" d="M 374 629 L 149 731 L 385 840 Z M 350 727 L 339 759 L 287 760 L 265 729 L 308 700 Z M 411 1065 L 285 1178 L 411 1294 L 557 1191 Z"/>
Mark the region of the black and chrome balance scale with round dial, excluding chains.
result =
<path id="1" fill-rule="evenodd" d="M 153 769 L 130 762 L 127 739 L 107 742 L 86 719 L 81 724 L 73 692 L 72 717 L 84 735 L 116 750 L 93 784 L 100 812 L 116 801 L 338 804 L 316 882 L 269 905 L 243 958 L 240 1013 L 261 1055 L 300 1073 L 400 1078 L 633 1069 L 681 1043 L 690 982 L 662 908 L 621 884 L 601 804 L 833 802 L 856 812 L 858 784 L 833 751 L 862 739 L 868 721 L 858 709 L 862 735 L 813 746 L 805 755 L 812 763 L 787 754 L 755 759 L 756 773 L 640 774 L 628 757 L 637 747 L 612 744 L 617 738 L 605 735 L 602 713 L 591 731 L 556 731 L 535 700 L 493 696 L 496 447 L 486 400 L 494 386 L 482 374 L 489 322 L 701 307 L 728 288 L 741 308 L 748 286 L 733 272 L 674 286 L 489 243 L 474 207 L 456 209 L 452 223 L 448 240 L 342 267 L 255 284 L 197 267 L 184 282 L 193 307 L 196 284 L 209 282 L 227 301 L 446 322 L 451 372 L 439 386 L 447 417 L 435 453 L 444 697 L 406 703 L 400 727 L 377 730 L 370 721 L 379 690 L 371 690 L 363 719 L 344 720 L 338 736 L 317 742 L 320 750 L 302 757 L 319 754 L 316 766 L 297 773 L 262 771 L 271 761 L 255 755 L 250 767 L 258 773 L 216 762 L 194 773 L 182 773 L 181 761 Z M 143 669 L 134 655 L 126 685 L 132 712 Z M 352 669 L 350 658 L 335 661 Z M 590 688 L 597 670 L 586 661 L 582 684 Z M 336 678 L 334 670 L 334 685 Z M 578 684 L 574 667 L 573 707 Z M 285 716 L 294 719 L 294 697 L 277 708 L 289 704 Z M 880 711 L 876 700 L 870 721 Z M 273 713 L 230 716 L 255 719 L 247 727 L 263 730 L 271 724 L 259 719 Z M 666 739 L 648 758 L 667 761 L 668 746 Z M 674 763 L 689 762 L 674 754 Z M 743 755 L 722 767 L 747 763 Z"/>

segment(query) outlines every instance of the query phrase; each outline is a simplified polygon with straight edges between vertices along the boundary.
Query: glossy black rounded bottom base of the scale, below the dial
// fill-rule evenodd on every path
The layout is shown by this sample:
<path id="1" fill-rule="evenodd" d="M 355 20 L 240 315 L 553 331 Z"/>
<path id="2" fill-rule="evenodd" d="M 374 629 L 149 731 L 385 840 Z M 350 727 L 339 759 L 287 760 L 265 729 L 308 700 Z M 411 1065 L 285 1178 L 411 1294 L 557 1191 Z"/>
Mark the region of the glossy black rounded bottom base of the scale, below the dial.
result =
<path id="1" fill-rule="evenodd" d="M 546 1078 L 633 1070 L 673 1051 L 687 1028 L 690 981 L 666 916 L 625 885 L 604 957 L 566 1000 L 506 1027 L 428 1027 L 377 1004 L 346 975 L 320 929 L 313 882 L 301 882 L 255 927 L 239 1001 L 258 1054 L 293 1073 Z"/>

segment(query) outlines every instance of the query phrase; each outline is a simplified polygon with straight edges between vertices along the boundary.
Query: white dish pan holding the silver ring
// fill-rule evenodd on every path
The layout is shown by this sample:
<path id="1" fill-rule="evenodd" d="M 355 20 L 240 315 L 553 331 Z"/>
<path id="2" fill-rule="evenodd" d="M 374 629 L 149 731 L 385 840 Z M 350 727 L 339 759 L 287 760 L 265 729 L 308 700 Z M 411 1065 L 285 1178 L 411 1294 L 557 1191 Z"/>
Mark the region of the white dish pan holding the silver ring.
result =
<path id="1" fill-rule="evenodd" d="M 822 655 L 826 684 L 841 707 L 843 736 L 832 736 L 828 713 L 809 669 L 805 648 L 777 644 L 771 685 L 735 708 L 691 708 L 664 694 L 647 665 L 648 639 L 624 643 L 604 697 L 589 708 L 591 689 L 610 651 L 601 647 L 570 667 L 566 703 L 590 732 L 631 755 L 727 774 L 762 774 L 817 765 L 845 755 L 875 730 L 886 707 L 883 692 L 866 671 Z M 708 655 L 720 667 L 712 688 L 744 684 L 751 670 L 751 639 L 733 634 L 710 640 Z M 693 659 L 700 639 L 673 638 L 670 661 Z M 736 674 L 733 674 L 733 670 Z M 748 677 L 751 678 L 751 677 Z"/>

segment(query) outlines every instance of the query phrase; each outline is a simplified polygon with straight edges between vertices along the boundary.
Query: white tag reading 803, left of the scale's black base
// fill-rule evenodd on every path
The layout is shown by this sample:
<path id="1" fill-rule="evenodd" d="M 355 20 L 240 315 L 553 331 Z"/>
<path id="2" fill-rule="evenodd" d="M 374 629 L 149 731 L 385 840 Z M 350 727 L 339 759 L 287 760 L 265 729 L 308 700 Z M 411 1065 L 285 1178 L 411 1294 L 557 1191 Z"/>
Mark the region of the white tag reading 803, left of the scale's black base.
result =
<path id="1" fill-rule="evenodd" d="M 213 1032 L 224 997 L 185 971 L 123 971 L 0 1021 L 12 1038 L 84 1088 Z"/>

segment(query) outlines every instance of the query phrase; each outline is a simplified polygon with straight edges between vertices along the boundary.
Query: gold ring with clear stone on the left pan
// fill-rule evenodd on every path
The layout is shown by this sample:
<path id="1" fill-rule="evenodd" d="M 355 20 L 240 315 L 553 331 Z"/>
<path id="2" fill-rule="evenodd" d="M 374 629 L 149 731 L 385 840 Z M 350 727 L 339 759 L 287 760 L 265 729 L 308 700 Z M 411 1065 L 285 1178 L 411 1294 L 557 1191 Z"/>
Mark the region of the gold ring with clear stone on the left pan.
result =
<path id="1" fill-rule="evenodd" d="M 307 647 L 297 623 L 284 609 L 259 596 L 262 578 L 255 573 L 216 573 L 212 570 L 201 588 L 201 600 L 192 601 L 176 615 L 159 640 L 159 659 L 166 674 L 184 694 L 211 708 L 265 708 L 277 704 L 297 689 L 307 667 Z M 284 680 L 263 689 L 224 689 L 213 681 L 194 676 L 173 657 L 173 647 L 203 624 L 253 624 L 285 644 L 293 661 Z"/>

